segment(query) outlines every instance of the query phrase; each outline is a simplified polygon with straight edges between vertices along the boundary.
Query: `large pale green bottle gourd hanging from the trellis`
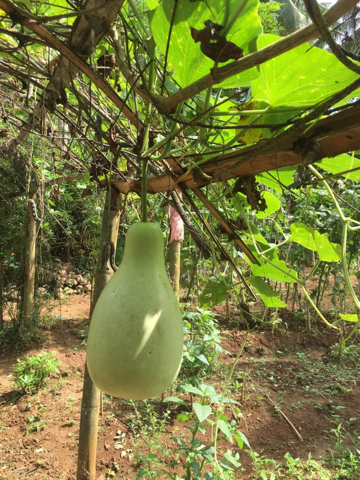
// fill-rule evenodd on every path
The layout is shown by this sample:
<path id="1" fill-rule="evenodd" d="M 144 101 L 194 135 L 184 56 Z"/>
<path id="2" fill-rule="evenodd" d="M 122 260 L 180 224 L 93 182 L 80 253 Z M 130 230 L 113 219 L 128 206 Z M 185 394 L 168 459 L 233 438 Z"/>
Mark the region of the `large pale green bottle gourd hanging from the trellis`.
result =
<path id="1" fill-rule="evenodd" d="M 141 400 L 159 395 L 180 369 L 183 327 L 155 223 L 129 227 L 120 266 L 93 310 L 86 362 L 103 392 Z"/>

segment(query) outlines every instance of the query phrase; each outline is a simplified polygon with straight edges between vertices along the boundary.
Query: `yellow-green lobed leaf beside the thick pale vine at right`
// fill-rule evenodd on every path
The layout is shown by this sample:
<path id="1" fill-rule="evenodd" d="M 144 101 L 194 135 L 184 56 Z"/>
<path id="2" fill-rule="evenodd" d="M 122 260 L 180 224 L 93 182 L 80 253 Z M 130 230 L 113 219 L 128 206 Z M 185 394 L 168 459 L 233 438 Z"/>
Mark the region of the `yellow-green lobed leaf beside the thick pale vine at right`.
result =
<path id="1" fill-rule="evenodd" d="M 309 250 L 317 251 L 319 259 L 323 261 L 339 261 L 341 259 L 341 245 L 332 243 L 327 233 L 307 226 L 301 222 L 290 225 L 291 235 L 289 240 L 295 241 Z"/>

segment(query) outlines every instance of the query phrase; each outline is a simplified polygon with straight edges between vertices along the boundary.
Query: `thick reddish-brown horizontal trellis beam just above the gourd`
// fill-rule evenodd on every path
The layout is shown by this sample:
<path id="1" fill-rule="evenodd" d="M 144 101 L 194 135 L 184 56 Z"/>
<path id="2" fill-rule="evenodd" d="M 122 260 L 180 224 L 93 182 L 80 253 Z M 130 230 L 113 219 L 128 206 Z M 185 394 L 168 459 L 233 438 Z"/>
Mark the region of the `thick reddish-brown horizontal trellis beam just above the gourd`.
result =
<path id="1" fill-rule="evenodd" d="M 319 120 L 307 130 L 306 138 L 318 144 L 320 155 L 317 159 L 360 149 L 360 104 Z M 266 153 L 261 153 L 261 145 L 266 146 L 266 140 L 263 140 L 213 157 L 201 164 L 202 172 L 209 178 L 204 176 L 200 183 L 198 178 L 193 177 L 192 171 L 177 175 L 170 171 L 163 172 L 147 180 L 147 191 L 169 191 L 178 183 L 181 183 L 182 189 L 192 189 L 216 181 L 296 165 L 303 161 L 300 153 L 294 151 L 297 142 L 297 134 L 292 131 L 274 144 L 273 151 L 267 149 Z M 141 190 L 141 180 L 114 181 L 113 184 L 122 193 Z"/>

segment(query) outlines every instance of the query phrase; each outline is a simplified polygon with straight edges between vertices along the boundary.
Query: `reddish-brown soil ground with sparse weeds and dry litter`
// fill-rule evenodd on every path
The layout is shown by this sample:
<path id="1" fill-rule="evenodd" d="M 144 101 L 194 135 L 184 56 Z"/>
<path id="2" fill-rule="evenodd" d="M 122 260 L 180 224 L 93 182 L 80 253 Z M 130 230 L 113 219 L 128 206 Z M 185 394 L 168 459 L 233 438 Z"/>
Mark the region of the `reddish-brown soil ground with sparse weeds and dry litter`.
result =
<path id="1" fill-rule="evenodd" d="M 83 338 L 88 312 L 89 295 L 72 295 L 61 305 L 55 303 L 51 315 L 53 318 L 61 315 L 62 319 L 46 331 L 45 343 L 20 354 L 9 350 L 2 356 L 1 480 L 75 478 L 85 360 Z M 221 344 L 229 354 L 221 355 L 216 372 L 206 383 L 221 392 L 244 331 L 235 313 L 230 319 L 221 310 L 219 313 Z M 289 316 L 287 328 L 249 334 L 230 383 L 231 397 L 239 404 L 225 409 L 229 421 L 236 420 L 252 450 L 275 460 L 283 459 L 286 452 L 293 458 L 307 458 L 309 453 L 312 458 L 328 455 L 334 443 L 330 430 L 336 429 L 340 422 L 346 430 L 344 444 L 350 444 L 350 438 L 358 437 L 360 431 L 358 356 L 350 351 L 339 360 L 331 354 L 336 338 L 329 330 L 317 329 L 316 335 L 307 334 L 304 323 L 300 323 Z M 56 359 L 61 360 L 60 373 L 53 375 L 47 387 L 36 394 L 19 397 L 8 377 L 11 365 L 18 357 L 41 351 L 55 352 Z M 148 457 L 147 449 L 157 456 L 155 463 L 160 463 L 165 453 L 174 458 L 172 466 L 168 460 L 165 466 L 172 473 L 181 474 L 181 465 L 174 455 L 176 444 L 171 439 L 188 433 L 186 423 L 180 423 L 176 416 L 181 408 L 176 404 L 165 406 L 160 399 L 144 404 L 104 395 L 97 442 L 97 478 L 135 479 L 141 458 Z M 167 409 L 166 422 L 161 422 Z M 139 419 L 140 412 L 144 420 Z M 38 422 L 34 428 L 29 417 Z M 151 433 L 153 418 L 158 433 Z M 211 428 L 200 437 L 204 445 L 210 444 Z M 257 478 L 246 445 L 239 449 L 236 443 L 220 440 L 218 447 L 222 452 L 230 449 L 232 454 L 239 453 L 242 465 L 235 469 L 235 478 Z M 156 471 L 159 468 L 157 464 Z M 165 478 L 162 473 L 158 476 Z"/>

